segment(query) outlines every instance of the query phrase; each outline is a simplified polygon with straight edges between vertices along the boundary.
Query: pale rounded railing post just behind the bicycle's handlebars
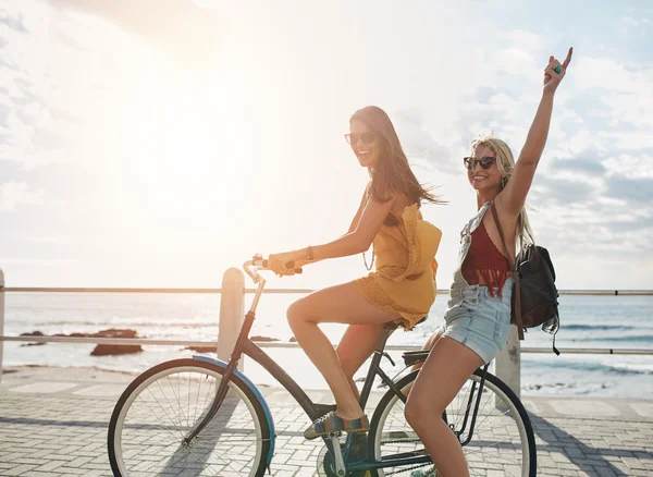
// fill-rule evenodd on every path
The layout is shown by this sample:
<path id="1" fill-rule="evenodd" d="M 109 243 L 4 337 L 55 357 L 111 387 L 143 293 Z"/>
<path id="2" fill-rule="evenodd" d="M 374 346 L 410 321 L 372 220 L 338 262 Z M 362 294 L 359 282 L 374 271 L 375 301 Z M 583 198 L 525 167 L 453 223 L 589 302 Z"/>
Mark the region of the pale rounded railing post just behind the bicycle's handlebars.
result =
<path id="1" fill-rule="evenodd" d="M 245 318 L 245 274 L 238 268 L 230 268 L 222 276 L 220 296 L 220 325 L 218 328 L 218 359 L 229 362 Z M 238 363 L 242 371 L 245 356 Z"/>

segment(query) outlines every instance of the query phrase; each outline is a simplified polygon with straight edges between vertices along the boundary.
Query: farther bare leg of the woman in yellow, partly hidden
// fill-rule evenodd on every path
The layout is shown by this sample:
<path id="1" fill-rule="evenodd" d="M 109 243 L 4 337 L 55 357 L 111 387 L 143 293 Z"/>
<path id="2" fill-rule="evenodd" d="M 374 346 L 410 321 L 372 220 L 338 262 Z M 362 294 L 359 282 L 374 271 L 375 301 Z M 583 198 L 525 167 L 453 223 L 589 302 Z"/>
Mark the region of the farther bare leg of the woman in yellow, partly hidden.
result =
<path id="1" fill-rule="evenodd" d="M 383 330 L 384 325 L 349 325 L 335 350 L 356 400 L 360 394 L 354 375 L 377 347 Z"/>

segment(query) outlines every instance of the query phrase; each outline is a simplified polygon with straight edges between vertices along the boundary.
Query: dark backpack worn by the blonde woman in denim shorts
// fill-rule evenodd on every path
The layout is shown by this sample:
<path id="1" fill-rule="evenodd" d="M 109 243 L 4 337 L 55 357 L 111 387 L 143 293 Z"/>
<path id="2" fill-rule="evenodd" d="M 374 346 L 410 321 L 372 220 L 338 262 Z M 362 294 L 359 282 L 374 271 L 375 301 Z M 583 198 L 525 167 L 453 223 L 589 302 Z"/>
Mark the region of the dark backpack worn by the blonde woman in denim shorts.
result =
<path id="1" fill-rule="evenodd" d="M 491 208 L 504 252 L 509 257 L 494 203 Z M 554 335 L 553 351 L 559 355 L 555 347 L 555 333 L 559 329 L 558 292 L 549 250 L 535 244 L 528 244 L 521 247 L 515 260 L 508 261 L 515 278 L 510 322 L 517 325 L 519 339 L 523 340 L 525 328 L 541 326 L 542 330 Z"/>

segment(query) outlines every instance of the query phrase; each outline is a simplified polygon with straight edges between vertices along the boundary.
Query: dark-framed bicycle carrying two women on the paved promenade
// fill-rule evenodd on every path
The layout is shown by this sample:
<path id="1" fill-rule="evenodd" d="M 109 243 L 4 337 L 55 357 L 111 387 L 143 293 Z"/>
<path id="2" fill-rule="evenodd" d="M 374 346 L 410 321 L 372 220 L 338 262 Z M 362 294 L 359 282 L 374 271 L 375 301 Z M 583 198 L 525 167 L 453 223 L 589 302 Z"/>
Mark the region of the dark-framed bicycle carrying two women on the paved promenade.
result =
<path id="1" fill-rule="evenodd" d="M 113 409 L 108 436 L 115 476 L 262 476 L 274 453 L 274 421 L 257 387 L 237 369 L 243 354 L 283 386 L 309 421 L 335 408 L 312 402 L 269 355 L 248 338 L 266 280 L 267 260 L 255 256 L 243 266 L 258 285 L 229 363 L 206 356 L 159 364 L 138 376 Z M 367 435 L 325 436 L 318 474 L 326 477 L 409 475 L 432 465 L 423 444 L 406 423 L 404 404 L 428 352 L 403 355 L 406 368 L 395 379 L 380 367 L 394 329 L 385 327 L 360 392 L 365 408 L 374 379 L 387 387 L 372 414 Z M 394 366 L 394 363 L 393 363 Z M 404 375 L 405 376 L 402 376 Z M 488 366 L 477 369 L 442 418 L 458 437 L 470 474 L 533 477 L 537 452 L 532 426 L 519 399 Z M 308 424 L 308 423 L 307 423 Z M 366 474 L 367 473 L 367 474 Z M 503 474 L 502 474 L 503 473 Z"/>

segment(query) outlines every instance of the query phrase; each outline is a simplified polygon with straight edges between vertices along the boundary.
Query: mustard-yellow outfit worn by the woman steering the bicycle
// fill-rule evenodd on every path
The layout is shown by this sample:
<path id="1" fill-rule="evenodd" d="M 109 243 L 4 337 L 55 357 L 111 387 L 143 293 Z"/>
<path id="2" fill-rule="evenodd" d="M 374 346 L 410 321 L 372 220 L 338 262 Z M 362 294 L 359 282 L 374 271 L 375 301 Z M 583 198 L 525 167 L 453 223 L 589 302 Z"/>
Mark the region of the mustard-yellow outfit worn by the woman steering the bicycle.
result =
<path id="1" fill-rule="evenodd" d="M 360 296 L 402 316 L 396 322 L 411 329 L 435 301 L 435 252 L 442 232 L 422 219 L 419 204 L 391 211 L 397 225 L 381 225 L 374 237 L 374 272 L 355 280 Z"/>

